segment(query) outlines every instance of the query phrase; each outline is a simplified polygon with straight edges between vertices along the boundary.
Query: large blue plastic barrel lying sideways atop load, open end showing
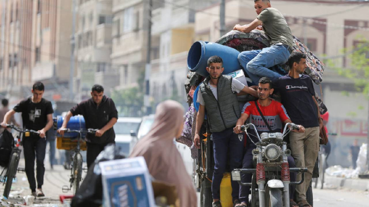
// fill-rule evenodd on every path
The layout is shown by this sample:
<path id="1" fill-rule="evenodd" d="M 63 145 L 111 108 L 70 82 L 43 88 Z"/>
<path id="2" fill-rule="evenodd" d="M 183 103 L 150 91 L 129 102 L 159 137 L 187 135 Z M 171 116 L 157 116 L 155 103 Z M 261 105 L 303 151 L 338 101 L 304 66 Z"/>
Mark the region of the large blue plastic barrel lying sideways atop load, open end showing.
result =
<path id="1" fill-rule="evenodd" d="M 201 76 L 207 77 L 207 60 L 213 55 L 223 59 L 223 74 L 242 70 L 238 62 L 239 52 L 231 47 L 220 45 L 214 42 L 197 41 L 193 43 L 187 56 L 187 67 L 190 71 L 196 72 Z"/>

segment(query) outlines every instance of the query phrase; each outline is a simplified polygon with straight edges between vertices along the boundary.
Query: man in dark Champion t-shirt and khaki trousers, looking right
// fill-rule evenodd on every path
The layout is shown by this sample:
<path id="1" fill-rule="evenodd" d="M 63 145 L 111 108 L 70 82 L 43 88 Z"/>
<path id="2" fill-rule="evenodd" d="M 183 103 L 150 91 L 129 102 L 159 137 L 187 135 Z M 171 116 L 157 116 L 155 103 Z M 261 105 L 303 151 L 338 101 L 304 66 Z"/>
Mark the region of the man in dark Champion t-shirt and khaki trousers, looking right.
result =
<path id="1" fill-rule="evenodd" d="M 319 129 L 323 126 L 323 120 L 315 100 L 313 81 L 303 74 L 307 67 L 306 55 L 293 52 L 288 64 L 289 73 L 275 82 L 275 88 L 280 92 L 282 104 L 292 122 L 305 127 L 305 133 L 290 133 L 290 147 L 296 166 L 307 168 L 304 182 L 296 186 L 297 203 L 303 207 L 311 207 L 306 201 L 306 191 L 318 157 Z M 297 174 L 297 180 L 301 180 L 301 173 Z"/>

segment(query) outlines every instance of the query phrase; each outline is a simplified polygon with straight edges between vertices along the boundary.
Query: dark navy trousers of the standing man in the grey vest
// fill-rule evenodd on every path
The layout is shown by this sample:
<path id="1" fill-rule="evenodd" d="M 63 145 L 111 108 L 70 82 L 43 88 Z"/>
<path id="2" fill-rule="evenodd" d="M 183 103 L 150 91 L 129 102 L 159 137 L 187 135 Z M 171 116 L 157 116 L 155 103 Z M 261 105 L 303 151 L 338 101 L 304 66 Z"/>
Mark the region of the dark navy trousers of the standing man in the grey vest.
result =
<path id="1" fill-rule="evenodd" d="M 226 172 L 226 166 L 229 153 L 229 165 L 231 170 L 240 168 L 244 154 L 244 140 L 238 139 L 238 134 L 233 133 L 232 128 L 211 134 L 214 150 L 214 172 L 211 183 L 213 199 L 220 199 L 220 182 L 223 179 L 223 173 Z M 237 181 L 231 181 L 232 199 L 238 200 L 239 185 Z"/>

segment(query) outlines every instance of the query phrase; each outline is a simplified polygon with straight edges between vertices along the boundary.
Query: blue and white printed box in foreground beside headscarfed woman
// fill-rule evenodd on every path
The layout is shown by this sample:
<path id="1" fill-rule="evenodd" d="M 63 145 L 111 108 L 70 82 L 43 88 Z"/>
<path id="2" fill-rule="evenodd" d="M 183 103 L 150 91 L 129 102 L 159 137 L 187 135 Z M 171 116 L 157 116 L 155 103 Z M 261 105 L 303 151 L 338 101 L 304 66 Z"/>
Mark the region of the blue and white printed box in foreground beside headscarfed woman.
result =
<path id="1" fill-rule="evenodd" d="M 149 171 L 143 157 L 99 163 L 104 207 L 151 207 L 155 205 Z"/>

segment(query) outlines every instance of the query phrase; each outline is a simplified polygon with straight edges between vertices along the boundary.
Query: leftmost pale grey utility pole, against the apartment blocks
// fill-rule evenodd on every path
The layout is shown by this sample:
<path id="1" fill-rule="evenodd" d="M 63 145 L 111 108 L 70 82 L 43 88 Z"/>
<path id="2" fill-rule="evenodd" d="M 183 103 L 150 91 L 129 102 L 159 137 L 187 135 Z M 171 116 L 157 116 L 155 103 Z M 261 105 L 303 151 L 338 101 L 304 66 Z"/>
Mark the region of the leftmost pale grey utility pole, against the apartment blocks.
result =
<path id="1" fill-rule="evenodd" d="M 74 48 L 75 48 L 75 27 L 76 27 L 76 0 L 72 0 L 72 35 L 70 36 L 70 71 L 69 71 L 69 100 L 73 101 L 73 76 L 74 76 Z"/>

